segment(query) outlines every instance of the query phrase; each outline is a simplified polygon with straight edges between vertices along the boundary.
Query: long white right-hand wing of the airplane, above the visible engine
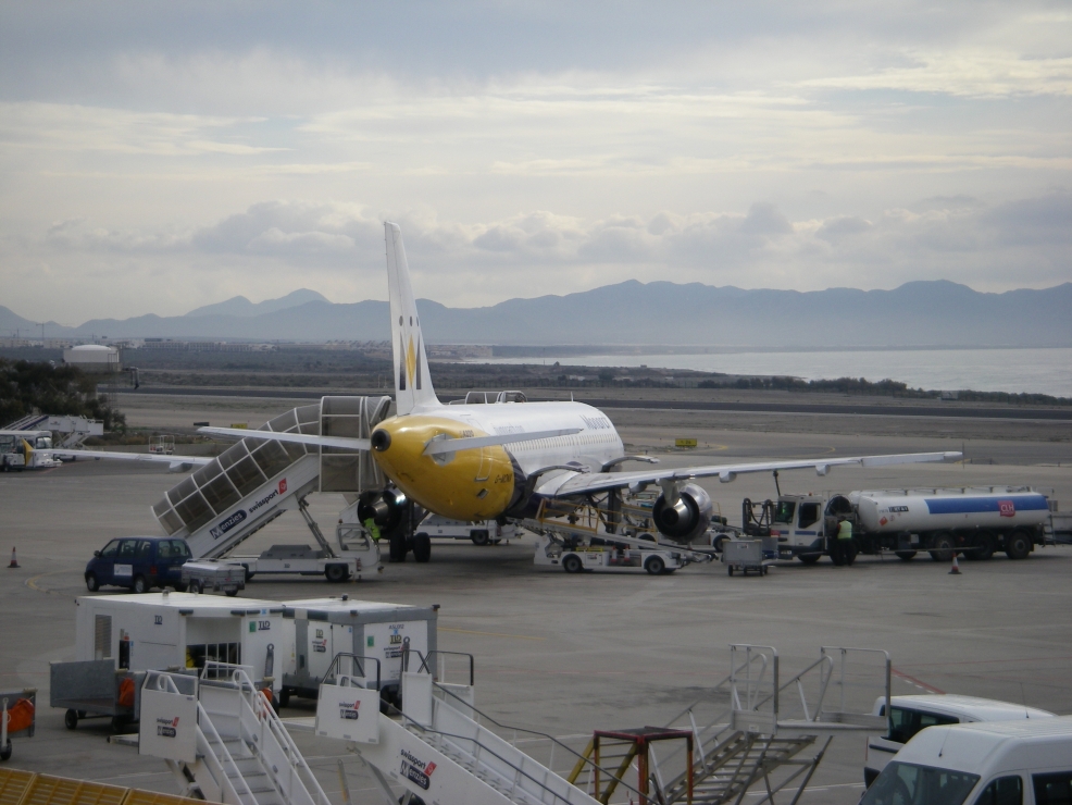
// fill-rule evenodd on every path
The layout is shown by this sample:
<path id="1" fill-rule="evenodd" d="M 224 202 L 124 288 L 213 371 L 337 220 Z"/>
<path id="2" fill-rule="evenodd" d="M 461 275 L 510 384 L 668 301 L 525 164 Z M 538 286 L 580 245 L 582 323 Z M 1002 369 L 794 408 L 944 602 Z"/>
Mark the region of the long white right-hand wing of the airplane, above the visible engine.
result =
<path id="1" fill-rule="evenodd" d="M 832 467 L 858 465 L 860 467 L 886 467 L 889 465 L 910 465 L 926 461 L 946 461 L 960 458 L 960 453 L 903 453 L 890 456 L 855 456 L 852 458 L 813 458 L 797 461 L 766 461 L 760 463 L 714 465 L 712 467 L 683 467 L 664 470 L 640 470 L 637 472 L 590 472 L 573 475 L 562 482 L 554 491 L 556 497 L 583 495 L 589 492 L 628 486 L 640 491 L 649 484 L 684 482 L 696 478 L 718 475 L 723 483 L 730 483 L 746 472 L 771 472 L 772 470 L 801 470 L 814 468 L 825 475 Z M 553 483 L 553 481 L 552 481 Z"/>

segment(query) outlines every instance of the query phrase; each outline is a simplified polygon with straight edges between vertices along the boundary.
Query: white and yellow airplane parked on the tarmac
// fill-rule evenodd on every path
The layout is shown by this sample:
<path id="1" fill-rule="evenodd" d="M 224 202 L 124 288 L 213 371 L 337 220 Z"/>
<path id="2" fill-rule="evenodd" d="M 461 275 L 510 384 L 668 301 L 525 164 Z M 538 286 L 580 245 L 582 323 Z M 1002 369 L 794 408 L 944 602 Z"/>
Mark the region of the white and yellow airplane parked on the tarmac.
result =
<path id="1" fill-rule="evenodd" d="M 316 436 L 230 428 L 200 432 L 233 438 L 291 442 L 322 447 L 370 450 L 398 492 L 384 494 L 382 506 L 398 509 L 407 498 L 452 520 L 523 519 L 543 501 L 582 504 L 597 495 L 660 490 L 652 521 L 660 534 L 688 543 L 707 531 L 711 498 L 696 479 L 813 468 L 825 475 L 833 467 L 945 461 L 960 453 L 918 453 L 851 458 L 713 465 L 681 469 L 623 471 L 626 462 L 657 463 L 625 454 L 610 418 L 584 403 L 529 403 L 518 393 L 495 403 L 445 405 L 428 372 L 421 318 L 410 285 L 409 265 L 398 224 L 384 224 L 395 361 L 396 413 L 370 438 Z M 619 498 L 620 499 L 620 498 Z"/>

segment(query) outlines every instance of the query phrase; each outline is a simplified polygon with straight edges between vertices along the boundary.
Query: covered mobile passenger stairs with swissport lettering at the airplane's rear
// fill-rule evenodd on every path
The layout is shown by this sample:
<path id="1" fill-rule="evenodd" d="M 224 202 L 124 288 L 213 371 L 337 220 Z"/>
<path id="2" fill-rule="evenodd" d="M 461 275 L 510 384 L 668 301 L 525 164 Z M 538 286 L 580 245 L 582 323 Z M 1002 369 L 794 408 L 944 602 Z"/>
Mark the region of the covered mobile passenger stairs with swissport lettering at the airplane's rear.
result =
<path id="1" fill-rule="evenodd" d="M 260 430 L 367 438 L 386 416 L 390 397 L 323 397 L 266 422 Z M 378 565 L 379 549 L 358 522 L 358 495 L 381 491 L 383 473 L 367 453 L 253 437 L 230 445 L 190 473 L 152 507 L 170 536 L 183 537 L 194 559 L 223 559 L 255 573 L 323 574 L 345 581 Z M 340 492 L 342 510 L 335 544 L 306 506 L 311 492 Z M 259 556 L 237 556 L 242 542 L 297 509 L 316 543 L 275 545 Z"/>

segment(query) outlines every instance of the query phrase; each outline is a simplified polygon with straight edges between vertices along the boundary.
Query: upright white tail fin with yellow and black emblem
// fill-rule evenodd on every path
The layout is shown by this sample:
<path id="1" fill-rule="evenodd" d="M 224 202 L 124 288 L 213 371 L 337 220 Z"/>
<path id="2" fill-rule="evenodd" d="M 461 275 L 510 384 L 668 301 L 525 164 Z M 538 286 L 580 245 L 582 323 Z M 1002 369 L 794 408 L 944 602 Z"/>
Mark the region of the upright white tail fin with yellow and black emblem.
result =
<path id="1" fill-rule="evenodd" d="M 390 295 L 391 351 L 395 355 L 395 405 L 399 416 L 414 408 L 439 405 L 432 387 L 421 319 L 410 285 L 410 269 L 398 224 L 384 224 L 387 240 L 387 284 Z"/>

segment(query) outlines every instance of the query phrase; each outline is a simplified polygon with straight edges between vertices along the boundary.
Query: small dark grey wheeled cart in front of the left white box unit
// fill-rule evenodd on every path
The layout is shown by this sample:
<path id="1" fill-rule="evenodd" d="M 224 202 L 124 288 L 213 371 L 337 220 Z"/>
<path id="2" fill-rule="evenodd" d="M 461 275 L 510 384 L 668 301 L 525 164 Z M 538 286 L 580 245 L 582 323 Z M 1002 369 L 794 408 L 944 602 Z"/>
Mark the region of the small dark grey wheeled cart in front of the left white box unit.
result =
<path id="1" fill-rule="evenodd" d="M 49 665 L 49 706 L 66 709 L 63 723 L 73 730 L 86 718 L 110 718 L 122 732 L 138 720 L 145 671 L 116 669 L 112 659 L 87 659 Z"/>

